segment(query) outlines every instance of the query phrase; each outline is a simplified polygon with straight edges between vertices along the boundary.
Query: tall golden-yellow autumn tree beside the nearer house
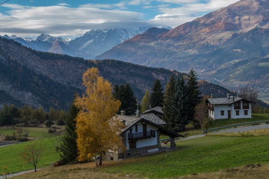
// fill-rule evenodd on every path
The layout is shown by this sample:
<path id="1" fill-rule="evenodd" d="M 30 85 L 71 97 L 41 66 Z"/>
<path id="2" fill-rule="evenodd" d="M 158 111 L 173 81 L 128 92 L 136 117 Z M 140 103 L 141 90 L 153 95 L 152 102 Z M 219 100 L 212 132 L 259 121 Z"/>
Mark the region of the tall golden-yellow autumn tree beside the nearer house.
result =
<path id="1" fill-rule="evenodd" d="M 80 109 L 76 117 L 76 132 L 79 161 L 91 160 L 105 151 L 117 151 L 122 147 L 121 123 L 113 118 L 121 103 L 112 96 L 111 84 L 99 76 L 97 68 L 83 74 L 86 89 L 82 97 L 76 97 L 75 105 Z"/>

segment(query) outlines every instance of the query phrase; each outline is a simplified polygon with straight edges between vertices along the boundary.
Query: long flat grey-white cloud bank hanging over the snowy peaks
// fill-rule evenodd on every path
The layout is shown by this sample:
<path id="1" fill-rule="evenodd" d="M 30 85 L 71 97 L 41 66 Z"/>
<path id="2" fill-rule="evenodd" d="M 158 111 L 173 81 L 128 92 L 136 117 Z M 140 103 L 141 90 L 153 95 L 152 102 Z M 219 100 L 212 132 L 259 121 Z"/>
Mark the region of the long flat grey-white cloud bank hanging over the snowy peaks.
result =
<path id="1" fill-rule="evenodd" d="M 55 36 L 79 36 L 90 29 L 149 26 L 146 21 L 141 20 L 143 15 L 141 13 L 117 9 L 106 10 L 92 5 L 78 8 L 20 6 L 8 13 L 8 15 L 0 14 L 1 35 L 37 36 L 40 33 L 49 33 Z"/>

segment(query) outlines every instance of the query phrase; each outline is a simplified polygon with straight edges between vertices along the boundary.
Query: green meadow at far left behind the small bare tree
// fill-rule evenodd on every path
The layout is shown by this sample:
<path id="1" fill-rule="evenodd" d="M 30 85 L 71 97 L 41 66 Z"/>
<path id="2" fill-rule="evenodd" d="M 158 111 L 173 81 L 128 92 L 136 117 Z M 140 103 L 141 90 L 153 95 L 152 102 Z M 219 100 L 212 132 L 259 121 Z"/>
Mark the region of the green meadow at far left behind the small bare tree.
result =
<path id="1" fill-rule="evenodd" d="M 38 168 L 50 166 L 51 162 L 56 162 L 60 159 L 59 152 L 56 151 L 56 146 L 60 142 L 60 137 L 53 137 L 41 140 L 43 152 Z M 33 166 L 24 163 L 20 159 L 20 153 L 23 152 L 25 145 L 28 142 L 15 145 L 0 147 L 0 174 L 4 172 L 19 172 L 33 169 Z M 6 171 L 4 171 L 6 167 Z"/>

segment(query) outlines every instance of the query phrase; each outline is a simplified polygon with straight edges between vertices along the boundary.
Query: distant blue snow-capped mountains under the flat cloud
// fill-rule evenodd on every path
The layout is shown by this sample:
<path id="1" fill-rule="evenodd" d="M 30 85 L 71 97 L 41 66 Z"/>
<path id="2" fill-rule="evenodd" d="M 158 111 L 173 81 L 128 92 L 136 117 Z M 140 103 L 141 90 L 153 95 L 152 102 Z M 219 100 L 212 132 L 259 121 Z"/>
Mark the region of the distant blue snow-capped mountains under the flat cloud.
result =
<path id="1" fill-rule="evenodd" d="M 11 37 L 4 35 L 3 37 L 13 39 L 23 46 L 41 52 L 52 52 L 93 59 L 95 56 L 113 48 L 124 40 L 145 32 L 149 28 L 92 29 L 74 40 L 71 38 L 54 37 L 49 34 L 41 34 L 36 39 L 20 38 L 16 35 L 12 35 Z"/>

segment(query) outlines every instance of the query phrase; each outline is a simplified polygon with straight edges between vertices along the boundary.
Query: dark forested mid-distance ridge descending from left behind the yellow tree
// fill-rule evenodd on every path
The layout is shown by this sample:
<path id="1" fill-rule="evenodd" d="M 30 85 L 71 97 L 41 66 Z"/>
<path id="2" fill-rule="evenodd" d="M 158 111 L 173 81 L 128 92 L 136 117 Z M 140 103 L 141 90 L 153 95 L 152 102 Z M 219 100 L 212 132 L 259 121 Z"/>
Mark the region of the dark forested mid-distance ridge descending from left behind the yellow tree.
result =
<path id="1" fill-rule="evenodd" d="M 129 83 L 140 101 L 146 91 L 160 79 L 163 86 L 170 76 L 186 74 L 163 68 L 150 68 L 117 60 L 84 60 L 68 55 L 39 52 L 0 37 L 0 107 L 4 103 L 33 107 L 50 106 L 68 109 L 74 94 L 84 91 L 82 74 L 97 67 L 100 75 L 113 85 Z M 223 96 L 228 89 L 201 83 L 205 95 Z"/>

